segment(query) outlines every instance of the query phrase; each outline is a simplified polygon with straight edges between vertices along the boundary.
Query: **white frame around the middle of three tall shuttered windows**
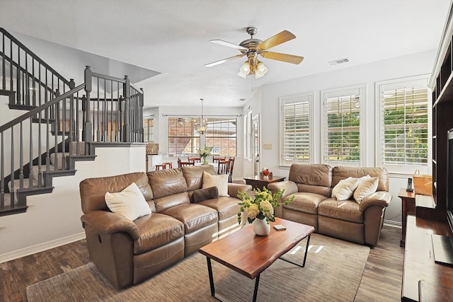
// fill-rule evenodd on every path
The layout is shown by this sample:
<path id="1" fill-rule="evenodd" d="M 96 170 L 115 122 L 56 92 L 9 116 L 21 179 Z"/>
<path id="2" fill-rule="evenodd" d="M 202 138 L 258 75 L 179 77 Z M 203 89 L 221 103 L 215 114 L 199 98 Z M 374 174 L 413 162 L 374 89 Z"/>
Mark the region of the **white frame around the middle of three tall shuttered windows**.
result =
<path id="1" fill-rule="evenodd" d="M 341 161 L 341 160 L 328 160 L 328 116 L 327 116 L 327 100 L 331 98 L 342 98 L 348 95 L 357 95 L 359 97 L 359 157 L 360 159 L 357 162 L 352 161 Z M 367 140 L 365 139 L 366 133 L 366 104 L 367 104 L 367 85 L 355 85 L 355 86 L 346 86 L 341 88 L 333 88 L 328 90 L 321 91 L 321 133 L 323 137 L 321 139 L 321 163 L 326 163 L 328 165 L 349 165 L 349 166 L 363 166 L 367 162 L 367 154 L 365 153 L 365 146 Z"/>

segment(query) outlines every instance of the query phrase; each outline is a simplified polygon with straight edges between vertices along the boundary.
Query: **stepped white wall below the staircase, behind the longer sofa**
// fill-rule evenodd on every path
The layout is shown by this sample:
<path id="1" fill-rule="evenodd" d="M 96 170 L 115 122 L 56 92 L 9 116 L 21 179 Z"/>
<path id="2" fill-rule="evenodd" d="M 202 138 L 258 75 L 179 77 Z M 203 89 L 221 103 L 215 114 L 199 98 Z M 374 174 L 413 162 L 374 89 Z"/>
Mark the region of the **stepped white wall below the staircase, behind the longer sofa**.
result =
<path id="1" fill-rule="evenodd" d="M 25 213 L 0 217 L 0 262 L 85 238 L 80 221 L 81 180 L 144 168 L 145 146 L 96 148 L 95 161 L 76 162 L 76 175 L 53 179 L 52 193 L 27 197 Z"/>

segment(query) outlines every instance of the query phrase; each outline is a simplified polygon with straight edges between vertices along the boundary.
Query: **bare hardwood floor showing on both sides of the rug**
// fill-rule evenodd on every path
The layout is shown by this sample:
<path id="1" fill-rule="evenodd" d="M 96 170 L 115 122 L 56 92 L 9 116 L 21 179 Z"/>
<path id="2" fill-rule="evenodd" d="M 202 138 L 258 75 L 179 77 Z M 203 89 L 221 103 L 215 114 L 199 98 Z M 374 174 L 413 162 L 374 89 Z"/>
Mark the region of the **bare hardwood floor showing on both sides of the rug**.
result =
<path id="1" fill-rule="evenodd" d="M 403 252 L 401 228 L 384 226 L 379 245 L 370 250 L 355 301 L 400 301 Z M 0 301 L 27 301 L 28 285 L 90 262 L 86 240 L 0 263 Z"/>

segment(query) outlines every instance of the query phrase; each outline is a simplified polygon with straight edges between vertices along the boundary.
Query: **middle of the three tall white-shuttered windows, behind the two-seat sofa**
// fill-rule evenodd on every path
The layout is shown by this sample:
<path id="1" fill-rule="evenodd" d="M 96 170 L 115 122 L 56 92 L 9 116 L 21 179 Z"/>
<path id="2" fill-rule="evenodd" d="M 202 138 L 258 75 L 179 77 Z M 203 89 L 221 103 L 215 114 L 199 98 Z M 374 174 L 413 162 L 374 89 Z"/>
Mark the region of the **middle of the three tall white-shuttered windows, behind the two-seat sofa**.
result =
<path id="1" fill-rule="evenodd" d="M 323 91 L 323 162 L 330 165 L 361 165 L 362 104 L 365 86 Z"/>

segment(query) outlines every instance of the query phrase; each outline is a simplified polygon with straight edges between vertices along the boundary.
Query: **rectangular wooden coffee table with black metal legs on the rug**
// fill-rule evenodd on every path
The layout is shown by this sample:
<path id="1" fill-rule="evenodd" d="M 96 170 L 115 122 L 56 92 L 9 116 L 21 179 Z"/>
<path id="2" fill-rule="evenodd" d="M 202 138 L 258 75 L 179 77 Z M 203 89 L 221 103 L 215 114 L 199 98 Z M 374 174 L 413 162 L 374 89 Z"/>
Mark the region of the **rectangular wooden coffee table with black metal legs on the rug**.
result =
<path id="1" fill-rule="evenodd" d="M 286 230 L 276 231 L 273 228 L 274 224 L 282 224 L 286 227 Z M 217 298 L 219 301 L 225 300 L 222 296 L 215 294 L 211 259 L 250 279 L 256 278 L 253 301 L 256 301 L 256 295 L 258 294 L 261 272 L 270 267 L 280 256 L 285 255 L 286 252 L 294 248 L 301 240 L 308 237 L 302 264 L 280 258 L 299 267 L 305 266 L 310 236 L 314 232 L 314 227 L 278 218 L 275 219 L 275 222 L 271 222 L 270 225 L 271 228 L 268 236 L 255 235 L 253 233 L 253 226 L 249 224 L 225 238 L 200 248 L 198 252 L 205 255 L 207 260 L 211 296 Z"/>

